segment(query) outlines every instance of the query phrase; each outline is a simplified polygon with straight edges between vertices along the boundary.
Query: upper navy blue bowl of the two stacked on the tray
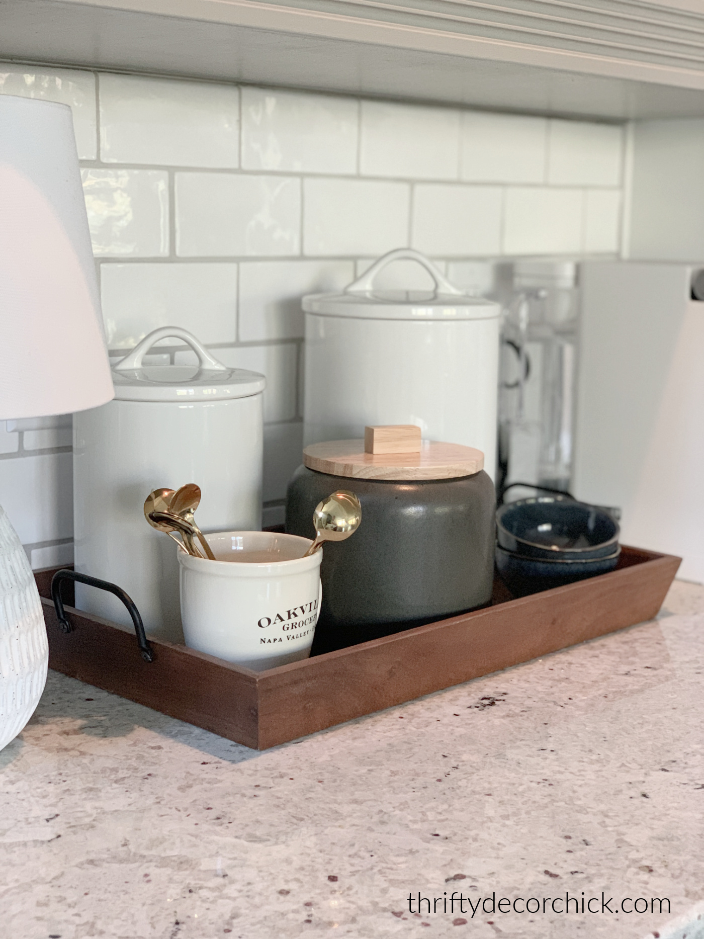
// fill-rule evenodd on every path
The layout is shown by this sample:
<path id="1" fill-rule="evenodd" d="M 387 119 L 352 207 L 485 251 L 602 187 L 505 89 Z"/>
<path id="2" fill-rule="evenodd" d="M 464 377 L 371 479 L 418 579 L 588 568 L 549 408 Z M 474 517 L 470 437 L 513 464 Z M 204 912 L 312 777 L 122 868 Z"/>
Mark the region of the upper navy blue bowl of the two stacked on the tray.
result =
<path id="1" fill-rule="evenodd" d="M 506 502 L 497 511 L 498 544 L 528 558 L 607 558 L 619 534 L 619 523 L 603 509 L 567 496 Z"/>

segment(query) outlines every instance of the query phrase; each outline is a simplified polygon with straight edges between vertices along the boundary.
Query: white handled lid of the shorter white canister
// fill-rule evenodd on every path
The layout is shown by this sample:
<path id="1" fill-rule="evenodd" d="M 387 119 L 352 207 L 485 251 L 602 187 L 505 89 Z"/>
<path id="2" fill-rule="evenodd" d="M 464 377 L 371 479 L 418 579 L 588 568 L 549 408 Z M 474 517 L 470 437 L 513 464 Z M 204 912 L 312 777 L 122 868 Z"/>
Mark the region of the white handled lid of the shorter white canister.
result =
<path id="1" fill-rule="evenodd" d="M 197 365 L 143 365 L 149 349 L 161 339 L 181 339 L 198 357 Z M 264 391 L 258 372 L 228 368 L 210 355 L 190 332 L 164 326 L 150 332 L 113 367 L 116 401 L 166 401 L 178 404 L 246 398 Z"/>

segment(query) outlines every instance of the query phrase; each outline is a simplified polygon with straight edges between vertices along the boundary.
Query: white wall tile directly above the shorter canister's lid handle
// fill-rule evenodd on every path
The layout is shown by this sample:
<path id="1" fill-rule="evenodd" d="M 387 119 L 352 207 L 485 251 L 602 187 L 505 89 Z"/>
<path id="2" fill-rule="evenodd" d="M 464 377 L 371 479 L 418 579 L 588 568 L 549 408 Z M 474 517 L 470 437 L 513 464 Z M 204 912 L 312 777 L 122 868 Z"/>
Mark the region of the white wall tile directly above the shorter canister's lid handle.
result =
<path id="1" fill-rule="evenodd" d="M 181 326 L 202 343 L 237 339 L 237 264 L 100 266 L 110 348 L 131 348 L 160 326 Z"/>

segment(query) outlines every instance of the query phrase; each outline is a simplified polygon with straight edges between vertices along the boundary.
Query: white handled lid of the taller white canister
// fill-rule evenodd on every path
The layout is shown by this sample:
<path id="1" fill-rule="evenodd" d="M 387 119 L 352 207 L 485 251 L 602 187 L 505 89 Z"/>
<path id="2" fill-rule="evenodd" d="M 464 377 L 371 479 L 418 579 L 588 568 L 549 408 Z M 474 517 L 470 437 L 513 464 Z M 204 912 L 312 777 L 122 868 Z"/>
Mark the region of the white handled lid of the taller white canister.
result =
<path id="1" fill-rule="evenodd" d="M 397 260 L 418 261 L 435 281 L 435 289 L 375 290 L 376 275 L 391 261 Z M 416 321 L 494 319 L 500 313 L 498 303 L 468 296 L 451 284 L 424 254 L 411 248 L 400 248 L 384 254 L 358 280 L 346 286 L 342 293 L 309 294 L 303 298 L 303 309 L 317 316 Z"/>

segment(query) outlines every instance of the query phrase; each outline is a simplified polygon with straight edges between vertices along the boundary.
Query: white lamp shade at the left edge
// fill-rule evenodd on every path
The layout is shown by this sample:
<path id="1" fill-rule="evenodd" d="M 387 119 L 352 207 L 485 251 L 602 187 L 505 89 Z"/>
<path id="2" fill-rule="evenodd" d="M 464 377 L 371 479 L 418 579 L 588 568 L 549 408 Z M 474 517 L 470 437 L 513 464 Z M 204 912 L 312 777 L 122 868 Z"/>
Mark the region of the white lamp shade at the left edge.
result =
<path id="1" fill-rule="evenodd" d="M 113 396 L 70 109 L 0 95 L 0 420 Z"/>

